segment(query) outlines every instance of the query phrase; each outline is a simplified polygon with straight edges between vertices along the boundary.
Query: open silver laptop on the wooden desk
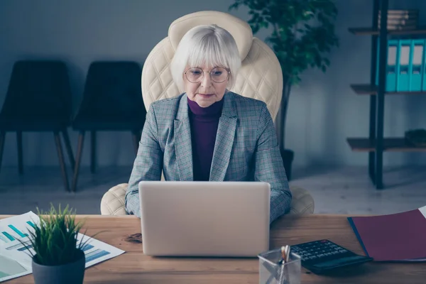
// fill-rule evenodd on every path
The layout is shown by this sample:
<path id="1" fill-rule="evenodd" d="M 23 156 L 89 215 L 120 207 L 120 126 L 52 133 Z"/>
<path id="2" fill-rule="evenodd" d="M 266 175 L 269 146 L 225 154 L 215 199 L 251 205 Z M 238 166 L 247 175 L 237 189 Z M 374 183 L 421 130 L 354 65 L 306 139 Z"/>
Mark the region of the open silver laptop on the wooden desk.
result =
<path id="1" fill-rule="evenodd" d="M 269 249 L 268 182 L 139 182 L 143 253 L 257 257 Z"/>

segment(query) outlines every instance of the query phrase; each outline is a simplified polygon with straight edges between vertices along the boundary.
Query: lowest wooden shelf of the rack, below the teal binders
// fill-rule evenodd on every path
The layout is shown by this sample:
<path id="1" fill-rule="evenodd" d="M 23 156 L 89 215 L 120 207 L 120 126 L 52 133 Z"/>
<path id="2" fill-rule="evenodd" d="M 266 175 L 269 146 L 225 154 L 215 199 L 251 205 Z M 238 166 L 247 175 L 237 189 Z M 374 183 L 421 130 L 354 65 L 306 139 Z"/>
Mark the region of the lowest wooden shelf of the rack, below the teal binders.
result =
<path id="1" fill-rule="evenodd" d="M 347 138 L 352 151 L 374 152 L 376 151 L 375 141 L 368 138 Z M 412 146 L 405 142 L 404 138 L 384 138 L 383 151 L 389 152 L 415 152 L 426 151 L 426 146 Z"/>

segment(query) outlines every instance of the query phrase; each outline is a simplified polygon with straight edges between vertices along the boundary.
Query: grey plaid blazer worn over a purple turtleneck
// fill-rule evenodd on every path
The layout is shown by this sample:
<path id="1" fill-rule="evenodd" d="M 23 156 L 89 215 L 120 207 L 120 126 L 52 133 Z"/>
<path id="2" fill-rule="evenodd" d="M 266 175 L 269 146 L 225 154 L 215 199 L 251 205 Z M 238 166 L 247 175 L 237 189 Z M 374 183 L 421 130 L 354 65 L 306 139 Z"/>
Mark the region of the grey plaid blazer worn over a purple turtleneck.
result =
<path id="1" fill-rule="evenodd" d="M 126 191 L 126 211 L 141 217 L 141 180 L 193 180 L 187 95 L 153 102 Z M 291 192 L 266 104 L 233 92 L 224 95 L 214 144 L 212 181 L 263 181 L 271 185 L 270 222 L 290 210 Z"/>

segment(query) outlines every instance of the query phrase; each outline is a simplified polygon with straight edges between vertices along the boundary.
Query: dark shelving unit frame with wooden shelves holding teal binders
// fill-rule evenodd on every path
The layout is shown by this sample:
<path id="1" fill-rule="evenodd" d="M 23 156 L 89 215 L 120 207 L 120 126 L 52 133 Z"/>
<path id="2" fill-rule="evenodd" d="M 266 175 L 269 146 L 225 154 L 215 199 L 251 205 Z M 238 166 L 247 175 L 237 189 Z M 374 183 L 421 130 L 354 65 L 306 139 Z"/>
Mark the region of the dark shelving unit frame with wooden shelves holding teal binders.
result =
<path id="1" fill-rule="evenodd" d="M 378 12 L 381 13 L 381 26 L 378 28 Z M 383 114 L 385 95 L 415 95 L 423 92 L 386 92 L 386 65 L 389 35 L 426 35 L 426 26 L 416 30 L 387 30 L 388 0 L 373 0 L 373 23 L 368 28 L 349 28 L 354 35 L 371 35 L 371 75 L 367 84 L 351 84 L 351 89 L 359 95 L 370 95 L 370 129 L 366 138 L 347 138 L 352 151 L 368 152 L 368 174 L 376 189 L 383 189 L 383 152 L 426 151 L 426 146 L 410 145 L 403 137 L 383 137 Z M 378 43 L 379 41 L 379 43 Z M 378 50 L 379 44 L 379 50 Z M 377 70 L 378 59 L 378 70 Z M 378 85 L 376 85 L 378 72 Z"/>

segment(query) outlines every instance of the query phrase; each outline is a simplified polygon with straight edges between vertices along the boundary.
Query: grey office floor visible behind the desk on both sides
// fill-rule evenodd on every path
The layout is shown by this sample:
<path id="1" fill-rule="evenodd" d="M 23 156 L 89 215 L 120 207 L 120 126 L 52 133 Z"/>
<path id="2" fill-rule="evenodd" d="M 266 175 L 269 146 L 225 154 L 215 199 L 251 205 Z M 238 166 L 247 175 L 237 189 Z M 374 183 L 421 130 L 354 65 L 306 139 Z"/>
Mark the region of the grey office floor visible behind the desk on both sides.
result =
<path id="1" fill-rule="evenodd" d="M 315 199 L 315 213 L 389 214 L 426 205 L 426 168 L 386 169 L 386 189 L 371 185 L 364 167 L 295 170 L 291 184 L 309 190 Z M 127 182 L 131 167 L 99 168 L 91 174 L 80 170 L 77 192 L 65 192 L 60 168 L 1 168 L 0 214 L 21 214 L 36 207 L 46 210 L 70 204 L 77 214 L 100 214 L 99 204 L 110 187 Z M 69 179 L 72 175 L 68 169 Z"/>

